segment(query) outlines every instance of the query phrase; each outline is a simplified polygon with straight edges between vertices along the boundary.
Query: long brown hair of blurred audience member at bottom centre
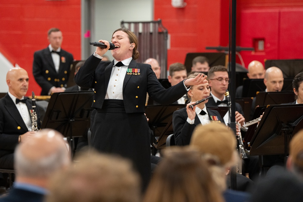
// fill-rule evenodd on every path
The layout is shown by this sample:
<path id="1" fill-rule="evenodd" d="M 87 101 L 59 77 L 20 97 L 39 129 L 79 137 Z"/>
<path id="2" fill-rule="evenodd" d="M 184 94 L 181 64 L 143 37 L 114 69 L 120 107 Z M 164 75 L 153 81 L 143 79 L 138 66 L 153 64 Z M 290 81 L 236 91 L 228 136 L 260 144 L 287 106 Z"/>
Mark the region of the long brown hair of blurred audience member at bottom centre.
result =
<path id="1" fill-rule="evenodd" d="M 165 150 L 143 202 L 224 201 L 198 151 L 189 147 Z"/>

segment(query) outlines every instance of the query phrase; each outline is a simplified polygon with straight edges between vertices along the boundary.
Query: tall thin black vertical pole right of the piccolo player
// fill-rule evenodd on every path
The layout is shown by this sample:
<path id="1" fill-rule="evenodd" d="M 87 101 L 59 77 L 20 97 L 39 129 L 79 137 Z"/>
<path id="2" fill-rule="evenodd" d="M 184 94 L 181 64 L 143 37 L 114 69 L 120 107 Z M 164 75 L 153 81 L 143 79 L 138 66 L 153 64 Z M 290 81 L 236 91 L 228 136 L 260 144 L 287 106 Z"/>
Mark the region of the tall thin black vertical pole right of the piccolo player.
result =
<path id="1" fill-rule="evenodd" d="M 231 0 L 231 38 L 230 38 L 230 84 L 229 84 L 229 94 L 231 98 L 231 117 L 230 117 L 230 127 L 236 134 L 236 120 L 235 120 L 235 92 L 236 92 L 236 0 Z M 236 189 L 236 173 L 235 168 L 231 170 L 231 188 Z"/>

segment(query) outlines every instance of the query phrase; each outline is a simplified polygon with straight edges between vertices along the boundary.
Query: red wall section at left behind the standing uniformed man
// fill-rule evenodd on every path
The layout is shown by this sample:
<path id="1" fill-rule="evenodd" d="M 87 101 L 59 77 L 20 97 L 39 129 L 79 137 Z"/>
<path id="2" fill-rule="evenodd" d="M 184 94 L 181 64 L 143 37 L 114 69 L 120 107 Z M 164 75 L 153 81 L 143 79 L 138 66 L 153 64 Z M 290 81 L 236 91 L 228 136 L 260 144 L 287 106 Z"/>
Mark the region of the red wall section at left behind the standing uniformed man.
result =
<path id="1" fill-rule="evenodd" d="M 47 31 L 52 27 L 63 33 L 62 48 L 81 58 L 81 0 L 8 0 L 0 2 L 0 51 L 13 64 L 28 71 L 29 89 L 41 88 L 32 75 L 34 52 L 48 46 Z M 6 74 L 6 72 L 2 72 Z"/>

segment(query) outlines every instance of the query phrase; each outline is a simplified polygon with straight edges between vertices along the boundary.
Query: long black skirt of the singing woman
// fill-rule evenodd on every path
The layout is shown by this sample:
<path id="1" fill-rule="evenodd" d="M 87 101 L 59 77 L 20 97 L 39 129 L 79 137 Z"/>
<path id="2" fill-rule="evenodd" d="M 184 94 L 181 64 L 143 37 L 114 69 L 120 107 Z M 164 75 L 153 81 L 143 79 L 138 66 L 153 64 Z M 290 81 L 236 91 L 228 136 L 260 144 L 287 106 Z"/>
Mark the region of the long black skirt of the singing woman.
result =
<path id="1" fill-rule="evenodd" d="M 92 126 L 90 145 L 130 159 L 146 187 L 151 177 L 150 132 L 144 113 L 125 113 L 123 100 L 105 100 Z"/>

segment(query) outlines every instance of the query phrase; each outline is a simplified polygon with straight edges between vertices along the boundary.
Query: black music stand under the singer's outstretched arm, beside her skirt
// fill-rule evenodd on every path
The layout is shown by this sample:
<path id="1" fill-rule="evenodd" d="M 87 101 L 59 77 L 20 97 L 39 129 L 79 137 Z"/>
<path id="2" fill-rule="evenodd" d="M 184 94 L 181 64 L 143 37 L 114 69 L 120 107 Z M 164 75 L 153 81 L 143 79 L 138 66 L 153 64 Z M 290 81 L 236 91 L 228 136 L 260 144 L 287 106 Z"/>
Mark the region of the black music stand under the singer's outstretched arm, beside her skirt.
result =
<path id="1" fill-rule="evenodd" d="M 169 121 L 172 114 L 178 108 L 184 108 L 185 104 L 170 104 L 170 105 L 148 105 L 145 109 L 146 117 L 149 118 L 148 125 L 154 133 L 154 137 L 159 137 Z M 151 137 L 151 144 L 155 143 L 155 138 Z M 155 155 L 155 150 L 153 154 Z"/>

